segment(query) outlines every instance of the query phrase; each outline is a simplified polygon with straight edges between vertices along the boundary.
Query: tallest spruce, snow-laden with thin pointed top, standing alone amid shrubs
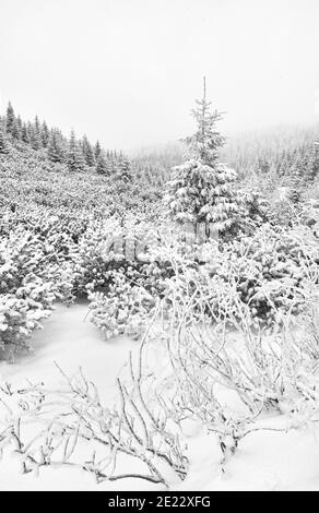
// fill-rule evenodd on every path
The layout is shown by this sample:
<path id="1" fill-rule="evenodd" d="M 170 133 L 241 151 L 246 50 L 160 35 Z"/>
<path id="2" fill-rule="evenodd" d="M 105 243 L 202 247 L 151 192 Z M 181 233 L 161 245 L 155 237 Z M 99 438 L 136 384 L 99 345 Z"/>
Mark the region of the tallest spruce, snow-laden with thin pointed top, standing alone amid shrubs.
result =
<path id="1" fill-rule="evenodd" d="M 205 97 L 197 100 L 192 116 L 197 121 L 196 133 L 184 140 L 189 159 L 173 168 L 173 179 L 167 183 L 165 203 L 173 220 L 206 223 L 225 231 L 232 226 L 237 202 L 233 192 L 236 172 L 218 160 L 218 148 L 225 143 L 215 123 L 222 116 L 211 114 L 211 103 Z"/>

